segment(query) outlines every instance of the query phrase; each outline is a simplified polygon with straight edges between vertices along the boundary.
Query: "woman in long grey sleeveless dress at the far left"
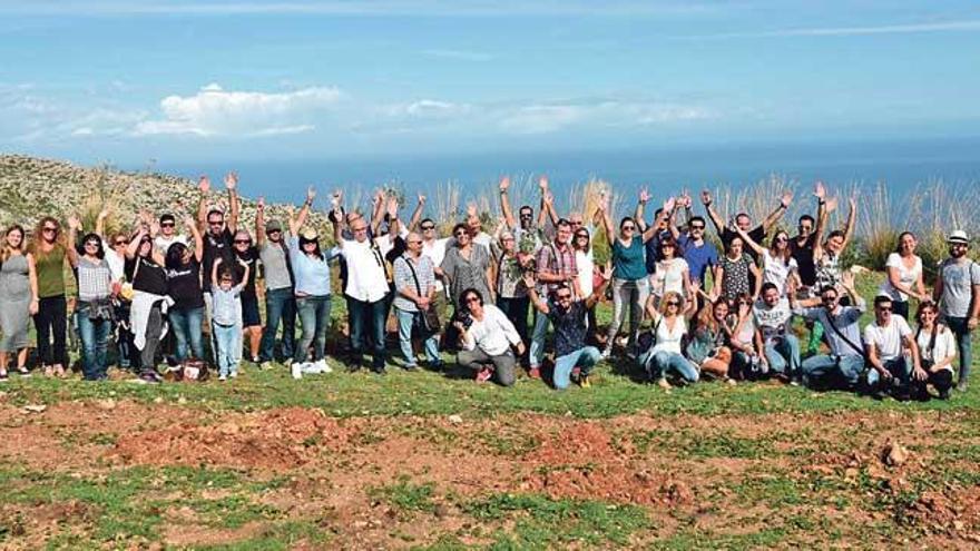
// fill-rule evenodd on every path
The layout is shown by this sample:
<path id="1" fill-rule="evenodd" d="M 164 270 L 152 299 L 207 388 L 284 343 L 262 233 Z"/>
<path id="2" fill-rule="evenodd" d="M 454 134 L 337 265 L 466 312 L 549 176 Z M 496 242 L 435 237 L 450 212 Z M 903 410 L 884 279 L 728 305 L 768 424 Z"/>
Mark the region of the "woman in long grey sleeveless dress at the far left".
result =
<path id="1" fill-rule="evenodd" d="M 17 371 L 28 375 L 28 328 L 30 325 L 31 281 L 36 279 L 23 227 L 13 225 L 0 245 L 0 381 L 7 378 L 10 356 Z"/>

